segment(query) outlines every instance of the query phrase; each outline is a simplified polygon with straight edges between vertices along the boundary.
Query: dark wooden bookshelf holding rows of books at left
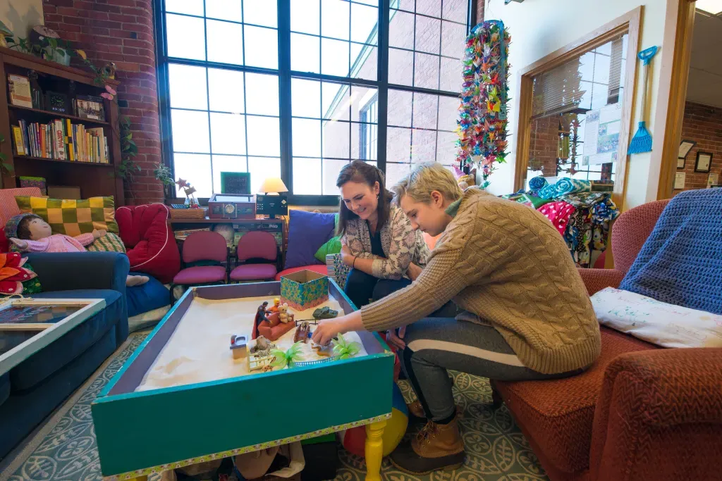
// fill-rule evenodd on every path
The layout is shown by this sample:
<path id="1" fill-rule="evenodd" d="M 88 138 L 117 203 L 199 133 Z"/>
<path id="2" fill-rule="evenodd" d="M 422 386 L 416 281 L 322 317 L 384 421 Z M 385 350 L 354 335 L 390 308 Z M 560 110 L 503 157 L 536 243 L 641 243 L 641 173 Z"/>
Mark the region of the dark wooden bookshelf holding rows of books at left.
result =
<path id="1" fill-rule="evenodd" d="M 27 77 L 30 71 L 38 73 L 38 84 L 43 94 L 47 91 L 66 95 L 69 111 L 64 113 L 41 110 L 38 108 L 12 105 L 9 102 L 7 76 L 9 74 Z M 117 98 L 103 101 L 105 120 L 80 118 L 74 115 L 71 106 L 76 95 L 99 97 L 104 87 L 95 84 L 95 76 L 90 71 L 74 69 L 59 63 L 20 53 L 9 48 L 0 48 L 0 82 L 4 94 L 0 95 L 0 133 L 5 141 L 0 151 L 5 154 L 6 162 L 12 165 L 11 172 L 2 172 L 2 187 L 19 186 L 19 177 L 44 177 L 47 185 L 68 185 L 80 187 L 82 198 L 99 195 L 113 195 L 116 206 L 123 206 L 123 181 L 113 175 L 121 163 L 121 141 L 118 128 Z M 117 81 L 109 82 L 113 88 Z M 71 120 L 71 123 L 85 125 L 87 128 L 102 128 L 108 139 L 108 163 L 78 162 L 77 160 L 51 159 L 46 157 L 18 155 L 15 150 L 13 125 L 20 120 L 30 123 L 50 123 L 54 119 Z M 93 168 L 99 167 L 99 168 Z"/>

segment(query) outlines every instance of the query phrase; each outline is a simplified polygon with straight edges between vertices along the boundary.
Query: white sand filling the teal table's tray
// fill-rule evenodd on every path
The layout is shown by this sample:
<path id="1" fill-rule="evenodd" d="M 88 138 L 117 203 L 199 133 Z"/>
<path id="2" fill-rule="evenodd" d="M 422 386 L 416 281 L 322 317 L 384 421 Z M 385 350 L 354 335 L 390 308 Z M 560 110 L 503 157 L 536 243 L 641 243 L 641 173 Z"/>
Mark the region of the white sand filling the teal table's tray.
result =
<path id="1" fill-rule="evenodd" d="M 217 381 L 238 376 L 248 376 L 260 371 L 248 371 L 248 358 L 233 359 L 230 350 L 231 335 L 245 335 L 251 339 L 253 318 L 263 301 L 273 306 L 273 298 L 248 297 L 243 299 L 224 299 L 212 301 L 195 298 L 188 307 L 168 343 L 160 351 L 153 365 L 143 378 L 136 391 L 148 391 L 161 387 L 182 386 L 205 381 Z M 329 306 L 343 313 L 338 301 L 333 297 L 321 304 L 297 312 L 289 309 L 295 319 L 312 319 L 313 311 L 318 307 Z M 311 330 L 315 328 L 311 325 Z M 287 349 L 293 344 L 295 329 L 290 330 L 274 341 L 279 349 Z M 355 332 L 344 335 L 349 341 L 361 345 L 357 356 L 365 356 L 360 337 Z M 311 349 L 310 340 L 303 346 L 304 361 L 327 359 L 319 357 Z M 279 369 L 279 368 L 275 368 Z"/>

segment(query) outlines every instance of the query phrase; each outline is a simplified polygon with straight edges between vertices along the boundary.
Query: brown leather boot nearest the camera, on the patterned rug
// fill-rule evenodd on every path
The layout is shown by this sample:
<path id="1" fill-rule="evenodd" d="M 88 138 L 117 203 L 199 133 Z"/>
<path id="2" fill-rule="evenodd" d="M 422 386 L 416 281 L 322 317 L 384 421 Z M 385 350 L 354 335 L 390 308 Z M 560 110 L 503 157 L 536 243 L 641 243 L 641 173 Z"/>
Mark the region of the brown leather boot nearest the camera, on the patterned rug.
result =
<path id="1" fill-rule="evenodd" d="M 453 470 L 464 464 L 464 441 L 456 419 L 448 424 L 429 421 L 410 443 L 391 453 L 391 463 L 401 471 L 426 475 L 438 469 Z"/>

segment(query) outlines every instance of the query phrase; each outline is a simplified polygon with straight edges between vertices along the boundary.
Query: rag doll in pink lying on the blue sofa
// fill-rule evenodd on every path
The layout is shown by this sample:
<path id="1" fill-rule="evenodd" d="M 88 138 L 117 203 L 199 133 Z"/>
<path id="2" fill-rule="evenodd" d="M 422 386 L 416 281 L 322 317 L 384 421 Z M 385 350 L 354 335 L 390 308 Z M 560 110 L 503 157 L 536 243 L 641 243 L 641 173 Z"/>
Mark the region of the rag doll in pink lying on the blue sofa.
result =
<path id="1" fill-rule="evenodd" d="M 95 239 L 108 233 L 95 229 L 90 234 L 71 237 L 65 234 L 53 234 L 50 225 L 35 214 L 21 214 L 13 219 L 16 218 L 19 219 L 17 219 L 17 225 L 14 226 L 15 232 L 12 232 L 12 229 L 8 231 L 11 226 L 11 222 L 8 221 L 6 235 L 10 242 L 22 252 L 85 252 L 84 246 L 92 244 Z M 147 282 L 146 275 L 129 275 L 126 278 L 128 287 L 139 286 Z"/>

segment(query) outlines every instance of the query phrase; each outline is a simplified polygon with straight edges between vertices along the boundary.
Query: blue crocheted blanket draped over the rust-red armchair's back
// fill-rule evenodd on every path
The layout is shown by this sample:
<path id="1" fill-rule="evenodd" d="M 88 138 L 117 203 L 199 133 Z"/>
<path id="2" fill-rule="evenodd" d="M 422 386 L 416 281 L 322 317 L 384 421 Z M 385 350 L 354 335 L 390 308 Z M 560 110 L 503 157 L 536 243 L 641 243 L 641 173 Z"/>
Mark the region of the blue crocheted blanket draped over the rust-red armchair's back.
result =
<path id="1" fill-rule="evenodd" d="M 673 198 L 619 288 L 722 314 L 722 188 Z"/>

